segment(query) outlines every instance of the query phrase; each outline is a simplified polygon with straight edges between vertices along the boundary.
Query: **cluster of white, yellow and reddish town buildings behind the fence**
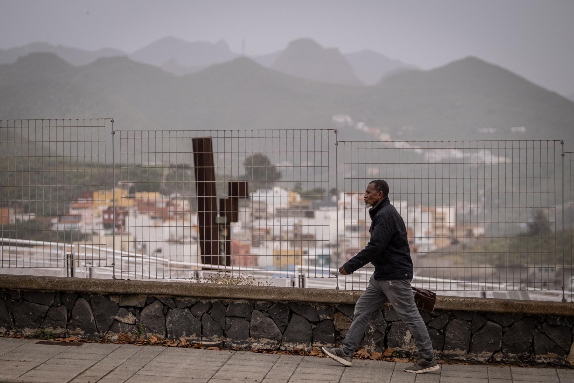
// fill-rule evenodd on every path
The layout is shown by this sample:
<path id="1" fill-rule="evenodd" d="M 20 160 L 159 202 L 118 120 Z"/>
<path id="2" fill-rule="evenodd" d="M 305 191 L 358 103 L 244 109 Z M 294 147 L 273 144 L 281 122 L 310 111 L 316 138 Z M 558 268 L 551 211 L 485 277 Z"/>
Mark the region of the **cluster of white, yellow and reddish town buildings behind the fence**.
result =
<path id="1" fill-rule="evenodd" d="M 484 225 L 457 223 L 454 207 L 393 203 L 405 220 L 413 254 L 435 252 L 464 238 L 484 237 Z M 237 222 L 229 228 L 231 264 L 227 266 L 251 270 L 300 266 L 315 270 L 317 277 L 328 276 L 368 242 L 367 211 L 360 193 L 307 199 L 280 186 L 257 189 L 249 198 L 239 199 Z M 5 224 L 36 218 L 14 207 L 2 208 L 0 213 Z M 76 196 L 67 214 L 51 218 L 50 227 L 83 234 L 76 242 L 82 245 L 141 257 L 182 257 L 184 262 L 200 264 L 198 225 L 198 212 L 179 193 L 130 194 L 118 187 Z"/>

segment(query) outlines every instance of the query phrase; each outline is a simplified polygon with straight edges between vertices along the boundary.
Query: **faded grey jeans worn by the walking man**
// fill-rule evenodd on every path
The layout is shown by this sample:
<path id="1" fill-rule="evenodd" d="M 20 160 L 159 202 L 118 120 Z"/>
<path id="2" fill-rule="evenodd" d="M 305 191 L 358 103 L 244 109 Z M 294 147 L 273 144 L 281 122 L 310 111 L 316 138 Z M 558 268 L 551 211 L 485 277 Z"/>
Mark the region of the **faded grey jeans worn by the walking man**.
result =
<path id="1" fill-rule="evenodd" d="M 381 308 L 386 301 L 390 301 L 399 318 L 409 326 L 414 341 L 417 342 L 418 354 L 421 358 L 433 359 L 435 355 L 432 352 L 429 332 L 414 303 L 413 290 L 410 288 L 408 279 L 377 281 L 371 277 L 369 287 L 355 304 L 355 316 L 343 341 L 343 351 L 346 354 L 355 352 L 363 338 L 371 314 Z"/>

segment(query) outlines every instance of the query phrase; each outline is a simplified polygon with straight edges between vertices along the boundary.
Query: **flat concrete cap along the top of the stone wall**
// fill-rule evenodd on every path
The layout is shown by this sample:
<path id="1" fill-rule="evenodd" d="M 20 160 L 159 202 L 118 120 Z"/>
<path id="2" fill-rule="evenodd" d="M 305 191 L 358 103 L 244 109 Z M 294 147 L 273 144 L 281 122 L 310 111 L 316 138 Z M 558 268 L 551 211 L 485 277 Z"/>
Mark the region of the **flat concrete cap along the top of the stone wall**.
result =
<path id="1" fill-rule="evenodd" d="M 163 281 L 125 281 L 67 277 L 0 275 L 0 288 L 42 291 L 77 291 L 150 296 L 250 299 L 309 303 L 354 304 L 360 291 L 293 287 L 241 286 Z M 437 296 L 436 310 L 506 312 L 528 315 L 574 316 L 574 304 L 532 300 Z"/>

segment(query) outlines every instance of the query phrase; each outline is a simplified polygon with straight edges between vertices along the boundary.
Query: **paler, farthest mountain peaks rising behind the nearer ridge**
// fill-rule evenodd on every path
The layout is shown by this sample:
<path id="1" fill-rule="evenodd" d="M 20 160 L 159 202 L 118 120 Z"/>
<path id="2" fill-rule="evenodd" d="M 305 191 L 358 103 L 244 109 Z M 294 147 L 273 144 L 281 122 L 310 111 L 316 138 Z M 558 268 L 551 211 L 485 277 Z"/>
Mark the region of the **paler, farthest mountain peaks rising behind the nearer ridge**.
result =
<path id="1" fill-rule="evenodd" d="M 241 55 L 232 52 L 227 42 L 188 42 L 164 37 L 133 53 L 105 48 L 86 51 L 79 48 L 33 42 L 24 47 L 0 49 L 0 64 L 14 63 L 18 57 L 34 52 L 51 52 L 72 65 L 84 65 L 100 57 L 129 56 L 134 61 L 155 65 L 175 75 L 199 72 L 213 64 L 224 63 Z M 297 77 L 335 84 L 373 85 L 382 76 L 413 65 L 392 60 L 381 53 L 360 51 L 343 55 L 337 48 L 324 48 L 310 38 L 290 42 L 284 51 L 250 57 L 259 64 Z"/>

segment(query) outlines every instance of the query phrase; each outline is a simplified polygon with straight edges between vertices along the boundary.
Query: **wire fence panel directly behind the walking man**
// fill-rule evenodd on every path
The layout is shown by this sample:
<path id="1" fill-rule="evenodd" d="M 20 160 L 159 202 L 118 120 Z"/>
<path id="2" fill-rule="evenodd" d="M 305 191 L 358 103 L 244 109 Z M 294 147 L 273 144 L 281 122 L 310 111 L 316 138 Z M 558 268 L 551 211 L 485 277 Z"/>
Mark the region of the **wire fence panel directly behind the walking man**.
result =
<path id="1" fill-rule="evenodd" d="M 414 285 L 436 291 L 561 290 L 570 280 L 562 251 L 570 236 L 560 202 L 560 141 L 339 146 L 345 259 L 369 239 L 364 189 L 384 179 L 408 229 Z M 346 288 L 364 289 L 372 272 L 369 265 L 347 277 Z"/>

